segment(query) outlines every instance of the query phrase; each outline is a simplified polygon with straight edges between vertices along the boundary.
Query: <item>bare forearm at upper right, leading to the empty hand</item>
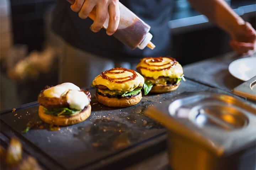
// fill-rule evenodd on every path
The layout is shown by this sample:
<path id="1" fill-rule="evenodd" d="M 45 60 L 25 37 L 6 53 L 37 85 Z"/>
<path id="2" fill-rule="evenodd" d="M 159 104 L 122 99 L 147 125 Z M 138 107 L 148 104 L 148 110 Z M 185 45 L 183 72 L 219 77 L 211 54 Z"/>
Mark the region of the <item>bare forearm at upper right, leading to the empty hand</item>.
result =
<path id="1" fill-rule="evenodd" d="M 188 0 L 190 4 L 208 19 L 229 34 L 236 34 L 238 26 L 244 24 L 224 0 Z"/>

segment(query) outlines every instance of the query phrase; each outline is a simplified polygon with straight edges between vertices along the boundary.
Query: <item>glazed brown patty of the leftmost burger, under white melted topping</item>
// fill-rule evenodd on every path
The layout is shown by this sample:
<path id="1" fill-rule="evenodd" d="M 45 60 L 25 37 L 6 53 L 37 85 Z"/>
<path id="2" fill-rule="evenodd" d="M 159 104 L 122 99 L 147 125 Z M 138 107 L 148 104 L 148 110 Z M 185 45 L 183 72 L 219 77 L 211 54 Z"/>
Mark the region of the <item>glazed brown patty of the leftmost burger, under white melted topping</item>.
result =
<path id="1" fill-rule="evenodd" d="M 48 89 L 49 87 L 46 86 L 46 89 Z M 40 94 L 38 95 L 38 103 L 44 107 L 46 107 L 47 109 L 51 110 L 51 109 L 54 109 L 54 108 L 62 108 L 62 107 L 66 107 L 68 108 L 69 107 L 69 103 L 66 101 L 66 94 L 61 96 L 60 98 L 58 97 L 45 97 L 43 92 L 44 90 L 42 90 L 40 92 Z M 86 91 L 86 90 L 82 90 L 86 96 L 88 97 L 89 99 L 89 102 L 91 100 L 91 94 L 89 91 Z"/>

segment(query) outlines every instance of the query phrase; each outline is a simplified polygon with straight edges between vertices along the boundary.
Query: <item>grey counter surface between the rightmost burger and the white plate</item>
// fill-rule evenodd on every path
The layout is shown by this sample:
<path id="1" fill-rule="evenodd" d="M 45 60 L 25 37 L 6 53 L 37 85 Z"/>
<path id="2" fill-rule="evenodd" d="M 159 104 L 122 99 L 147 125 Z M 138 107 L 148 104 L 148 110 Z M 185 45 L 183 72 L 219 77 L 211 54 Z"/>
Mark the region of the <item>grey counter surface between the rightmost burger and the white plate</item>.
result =
<path id="1" fill-rule="evenodd" d="M 253 55 L 256 57 L 256 53 Z M 218 57 L 188 64 L 183 67 L 186 78 L 196 80 L 209 86 L 231 91 L 236 86 L 244 83 L 233 77 L 228 70 L 229 64 L 241 58 L 234 52 L 226 53 Z"/>

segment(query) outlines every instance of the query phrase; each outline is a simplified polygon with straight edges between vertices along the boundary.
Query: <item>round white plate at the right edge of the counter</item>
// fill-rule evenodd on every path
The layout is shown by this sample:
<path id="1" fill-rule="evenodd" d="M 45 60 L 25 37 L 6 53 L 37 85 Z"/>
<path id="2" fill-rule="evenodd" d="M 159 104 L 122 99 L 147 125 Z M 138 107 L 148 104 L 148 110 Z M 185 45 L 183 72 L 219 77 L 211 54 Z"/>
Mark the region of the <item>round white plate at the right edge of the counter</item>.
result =
<path id="1" fill-rule="evenodd" d="M 240 58 L 231 62 L 229 73 L 242 81 L 253 78 L 256 76 L 256 57 Z"/>

